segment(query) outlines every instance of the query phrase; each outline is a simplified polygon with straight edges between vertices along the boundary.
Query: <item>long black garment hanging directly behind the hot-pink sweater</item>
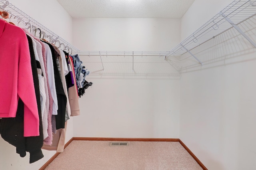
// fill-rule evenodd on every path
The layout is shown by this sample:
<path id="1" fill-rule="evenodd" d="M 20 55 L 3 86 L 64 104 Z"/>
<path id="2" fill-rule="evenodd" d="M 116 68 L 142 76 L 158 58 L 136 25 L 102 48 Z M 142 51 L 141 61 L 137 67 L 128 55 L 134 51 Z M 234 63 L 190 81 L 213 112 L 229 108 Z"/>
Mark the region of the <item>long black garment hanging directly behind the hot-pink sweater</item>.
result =
<path id="1" fill-rule="evenodd" d="M 16 146 L 16 152 L 21 157 L 26 156 L 26 151 L 30 153 L 30 163 L 36 162 L 44 157 L 42 154 L 43 146 L 43 129 L 42 129 L 42 115 L 40 105 L 40 91 L 39 80 L 37 72 L 37 63 L 34 55 L 32 39 L 27 36 L 31 57 L 32 75 L 34 80 L 34 88 L 36 93 L 36 102 L 39 113 L 39 136 L 24 137 L 24 103 L 21 99 L 18 101 L 18 109 L 15 118 L 2 118 L 0 124 L 0 133 L 4 140 Z M 24 80 L 26 81 L 26 80 Z"/>

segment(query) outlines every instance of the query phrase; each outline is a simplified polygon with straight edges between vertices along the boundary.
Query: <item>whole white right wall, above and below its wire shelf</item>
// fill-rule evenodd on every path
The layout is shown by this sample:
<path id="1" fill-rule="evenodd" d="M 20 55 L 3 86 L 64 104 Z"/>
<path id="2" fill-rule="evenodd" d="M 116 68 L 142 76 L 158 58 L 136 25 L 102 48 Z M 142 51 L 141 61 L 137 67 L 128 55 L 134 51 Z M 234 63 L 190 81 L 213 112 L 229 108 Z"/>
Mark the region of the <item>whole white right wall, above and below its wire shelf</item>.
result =
<path id="1" fill-rule="evenodd" d="M 182 37 L 212 18 L 211 13 L 221 7 L 212 3 L 194 2 L 182 18 Z M 208 12 L 194 18 L 200 9 Z M 256 169 L 256 50 L 242 36 L 230 38 L 232 34 L 237 32 L 231 29 L 211 40 L 207 44 L 216 46 L 206 44 L 208 52 L 198 56 L 213 59 L 216 53 L 220 56 L 215 58 L 225 60 L 184 73 L 180 81 L 180 139 L 209 170 Z M 246 34 L 256 41 L 255 30 Z M 218 40 L 225 42 L 218 44 Z"/>

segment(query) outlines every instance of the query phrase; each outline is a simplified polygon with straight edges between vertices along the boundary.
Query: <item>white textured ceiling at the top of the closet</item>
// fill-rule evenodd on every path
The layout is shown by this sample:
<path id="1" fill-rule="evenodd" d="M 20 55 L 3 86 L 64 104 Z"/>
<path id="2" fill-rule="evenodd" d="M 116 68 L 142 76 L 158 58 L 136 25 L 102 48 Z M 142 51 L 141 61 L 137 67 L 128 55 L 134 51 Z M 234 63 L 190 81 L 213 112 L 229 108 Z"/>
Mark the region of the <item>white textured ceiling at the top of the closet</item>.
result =
<path id="1" fill-rule="evenodd" d="M 57 0 L 73 18 L 181 18 L 194 0 Z"/>

